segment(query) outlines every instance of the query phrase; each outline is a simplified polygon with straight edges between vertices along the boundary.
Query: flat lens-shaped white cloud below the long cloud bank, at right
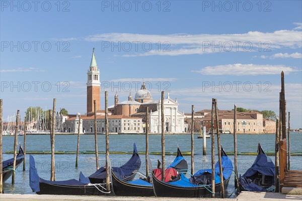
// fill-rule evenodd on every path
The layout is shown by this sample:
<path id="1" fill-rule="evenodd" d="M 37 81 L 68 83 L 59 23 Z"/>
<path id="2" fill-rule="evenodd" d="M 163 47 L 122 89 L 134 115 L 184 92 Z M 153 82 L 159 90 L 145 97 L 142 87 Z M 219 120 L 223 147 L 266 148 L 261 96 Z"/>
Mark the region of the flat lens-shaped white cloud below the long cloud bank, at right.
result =
<path id="1" fill-rule="evenodd" d="M 298 71 L 292 67 L 284 65 L 259 65 L 259 64 L 227 64 L 217 66 L 206 66 L 200 70 L 193 71 L 204 75 L 273 75 L 280 74 L 281 71 L 285 74 Z"/>

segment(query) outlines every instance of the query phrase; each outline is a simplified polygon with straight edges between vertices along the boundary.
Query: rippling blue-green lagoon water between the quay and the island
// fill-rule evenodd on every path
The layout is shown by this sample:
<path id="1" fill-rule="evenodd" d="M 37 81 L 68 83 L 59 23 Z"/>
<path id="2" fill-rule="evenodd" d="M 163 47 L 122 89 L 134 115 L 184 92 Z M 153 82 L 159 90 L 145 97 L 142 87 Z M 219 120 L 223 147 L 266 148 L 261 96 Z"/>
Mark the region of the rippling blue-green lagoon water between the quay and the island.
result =
<path id="1" fill-rule="evenodd" d="M 23 145 L 23 136 L 19 136 L 19 143 Z M 233 135 L 221 135 L 221 144 L 226 152 L 234 151 Z M 302 151 L 302 135 L 292 132 L 290 135 L 291 152 Z M 144 135 L 110 135 L 110 151 L 133 151 L 133 143 L 136 143 L 138 151 L 145 151 L 145 136 Z M 166 135 L 166 152 L 176 152 L 177 145 L 179 145 L 182 152 L 191 150 L 190 135 Z M 274 151 L 275 149 L 275 135 L 238 135 L 237 149 L 239 152 L 257 152 L 258 142 L 261 143 L 264 151 Z M 49 135 L 28 135 L 26 139 L 27 151 L 50 151 L 50 136 Z M 211 139 L 206 139 L 207 155 L 202 155 L 202 139 L 197 139 L 194 136 L 195 156 L 194 166 L 195 172 L 203 168 L 211 168 Z M 81 135 L 80 151 L 94 150 L 94 135 Z M 12 151 L 14 146 L 14 137 L 3 137 L 3 152 Z M 57 135 L 55 136 L 55 150 L 56 151 L 76 151 L 77 150 L 77 135 Z M 98 150 L 105 151 L 105 136 L 98 135 Z M 149 135 L 149 152 L 161 152 L 161 136 Z M 215 145 L 215 152 L 217 153 L 217 144 Z M 37 163 L 37 171 L 40 177 L 50 179 L 50 154 L 34 154 Z M 157 160 L 161 160 L 160 155 L 149 155 L 153 167 L 157 167 Z M 4 160 L 13 157 L 13 154 L 4 154 Z M 120 166 L 131 157 L 130 154 L 111 154 L 113 166 Z M 144 155 L 140 155 L 142 165 L 141 172 L 145 172 Z M 274 156 L 269 156 L 274 161 Z M 174 160 L 175 156 L 166 156 L 166 165 Z M 189 169 L 191 167 L 190 156 L 185 156 Z M 234 161 L 234 156 L 230 156 Z M 240 174 L 251 167 L 256 156 L 238 156 L 238 171 Z M 100 166 L 104 165 L 105 155 L 99 154 Z M 215 161 L 218 156 L 215 156 Z M 56 154 L 56 180 L 66 180 L 79 178 L 80 171 L 84 175 L 89 176 L 96 170 L 96 162 L 94 154 L 80 154 L 79 167 L 75 168 L 75 154 Z M 291 156 L 291 169 L 302 169 L 302 156 Z M 16 173 L 15 185 L 11 184 L 11 178 L 4 183 L 4 191 L 7 193 L 33 193 L 29 186 L 29 156 L 26 157 L 26 171 L 22 171 L 23 165 L 20 165 Z M 234 174 L 230 179 L 226 195 L 230 195 L 234 191 Z"/>

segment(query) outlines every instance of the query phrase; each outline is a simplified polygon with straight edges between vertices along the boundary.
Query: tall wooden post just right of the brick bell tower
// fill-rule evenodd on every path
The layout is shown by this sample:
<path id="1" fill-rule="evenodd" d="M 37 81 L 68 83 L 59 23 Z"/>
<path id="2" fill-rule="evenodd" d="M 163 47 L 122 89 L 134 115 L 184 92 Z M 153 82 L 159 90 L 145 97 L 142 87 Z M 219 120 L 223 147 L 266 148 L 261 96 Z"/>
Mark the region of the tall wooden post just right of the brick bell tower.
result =
<path id="1" fill-rule="evenodd" d="M 106 127 L 106 189 L 110 191 L 109 169 L 109 126 L 108 126 L 108 91 L 105 91 L 105 127 Z M 107 195 L 110 195 L 109 193 Z"/>

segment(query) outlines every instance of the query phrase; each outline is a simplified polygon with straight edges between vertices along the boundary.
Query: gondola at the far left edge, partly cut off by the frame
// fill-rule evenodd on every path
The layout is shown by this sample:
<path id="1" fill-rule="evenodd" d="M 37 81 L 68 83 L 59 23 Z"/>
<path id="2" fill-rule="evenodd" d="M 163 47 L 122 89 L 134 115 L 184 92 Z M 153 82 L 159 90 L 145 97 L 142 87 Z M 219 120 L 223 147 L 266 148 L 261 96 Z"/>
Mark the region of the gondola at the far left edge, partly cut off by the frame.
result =
<path id="1" fill-rule="evenodd" d="M 19 145 L 19 146 L 20 146 L 19 153 L 17 154 L 17 157 L 16 157 L 16 169 L 18 168 L 18 166 L 24 160 L 23 149 L 22 149 L 21 145 Z M 2 164 L 3 164 L 3 169 L 2 169 L 2 172 L 3 172 L 3 181 L 6 181 L 13 174 L 14 158 L 11 158 L 9 160 L 3 161 Z"/>

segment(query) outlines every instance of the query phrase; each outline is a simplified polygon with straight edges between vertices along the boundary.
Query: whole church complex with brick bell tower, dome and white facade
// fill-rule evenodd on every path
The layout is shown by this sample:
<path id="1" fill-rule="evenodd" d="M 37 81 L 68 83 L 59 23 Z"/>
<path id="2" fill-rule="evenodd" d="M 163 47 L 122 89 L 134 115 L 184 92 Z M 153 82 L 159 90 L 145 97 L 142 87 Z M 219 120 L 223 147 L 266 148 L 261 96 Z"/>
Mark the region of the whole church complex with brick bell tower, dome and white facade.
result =
<path id="1" fill-rule="evenodd" d="M 90 67 L 87 71 L 87 113 L 86 115 L 78 113 L 64 120 L 61 123 L 64 128 L 63 132 L 78 133 L 80 123 L 81 133 L 94 133 L 94 101 L 96 102 L 97 133 L 105 132 L 105 111 L 101 110 L 100 90 L 100 70 L 93 49 Z M 147 107 L 149 110 L 149 132 L 161 133 L 161 98 L 154 100 L 144 82 L 140 90 L 136 91 L 134 100 L 131 92 L 128 100 L 122 102 L 119 102 L 118 93 L 115 94 L 114 105 L 108 107 L 109 132 L 116 134 L 144 133 Z M 169 93 L 164 99 L 164 112 L 164 130 L 166 133 L 185 132 L 185 115 L 178 111 L 177 98 L 171 99 Z"/>

